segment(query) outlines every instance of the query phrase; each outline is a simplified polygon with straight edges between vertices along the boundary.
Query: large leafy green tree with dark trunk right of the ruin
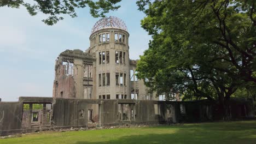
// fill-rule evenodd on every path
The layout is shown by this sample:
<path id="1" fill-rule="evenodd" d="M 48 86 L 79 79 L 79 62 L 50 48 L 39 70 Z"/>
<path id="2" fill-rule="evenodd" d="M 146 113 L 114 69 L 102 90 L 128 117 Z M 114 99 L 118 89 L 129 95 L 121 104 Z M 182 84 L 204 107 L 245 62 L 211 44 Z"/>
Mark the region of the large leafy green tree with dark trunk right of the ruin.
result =
<path id="1" fill-rule="evenodd" d="M 138 1 L 152 35 L 137 64 L 154 91 L 225 103 L 238 88 L 256 83 L 254 0 Z M 157 59 L 157 61 L 156 61 Z"/>

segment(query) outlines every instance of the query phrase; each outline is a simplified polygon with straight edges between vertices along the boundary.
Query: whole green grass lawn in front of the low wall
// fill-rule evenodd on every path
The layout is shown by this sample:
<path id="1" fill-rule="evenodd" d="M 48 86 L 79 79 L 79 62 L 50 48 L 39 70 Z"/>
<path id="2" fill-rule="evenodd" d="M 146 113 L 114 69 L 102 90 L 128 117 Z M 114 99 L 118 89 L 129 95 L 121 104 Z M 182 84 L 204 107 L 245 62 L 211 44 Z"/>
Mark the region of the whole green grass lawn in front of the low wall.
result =
<path id="1" fill-rule="evenodd" d="M 256 121 L 196 123 L 87 131 L 44 131 L 0 143 L 256 143 Z"/>

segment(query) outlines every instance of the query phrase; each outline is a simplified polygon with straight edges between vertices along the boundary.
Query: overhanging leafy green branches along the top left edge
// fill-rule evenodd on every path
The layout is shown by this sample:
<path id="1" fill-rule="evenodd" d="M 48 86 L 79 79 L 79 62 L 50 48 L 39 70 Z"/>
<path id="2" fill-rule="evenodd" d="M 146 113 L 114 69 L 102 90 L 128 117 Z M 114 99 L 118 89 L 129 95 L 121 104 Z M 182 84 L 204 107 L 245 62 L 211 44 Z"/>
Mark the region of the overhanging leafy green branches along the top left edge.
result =
<path id="1" fill-rule="evenodd" d="M 63 15 L 67 14 L 76 17 L 77 8 L 90 8 L 90 13 L 94 17 L 104 17 L 109 10 L 117 10 L 117 5 L 121 0 L 0 0 L 0 7 L 20 8 L 26 7 L 32 16 L 43 13 L 49 17 L 42 20 L 47 25 L 54 25 L 59 20 L 63 20 Z"/>

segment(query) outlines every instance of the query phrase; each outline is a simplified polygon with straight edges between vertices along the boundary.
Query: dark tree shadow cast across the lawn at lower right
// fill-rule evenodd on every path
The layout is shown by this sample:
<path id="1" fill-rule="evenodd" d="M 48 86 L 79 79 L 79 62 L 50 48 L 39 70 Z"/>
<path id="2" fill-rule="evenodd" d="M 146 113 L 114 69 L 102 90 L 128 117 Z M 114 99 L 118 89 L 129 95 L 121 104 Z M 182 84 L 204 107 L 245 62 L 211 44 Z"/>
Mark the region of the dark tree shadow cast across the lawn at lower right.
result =
<path id="1" fill-rule="evenodd" d="M 102 142 L 78 141 L 82 143 L 256 143 L 256 122 L 248 123 L 203 123 L 153 128 L 152 134 L 117 137 Z M 241 124 L 241 125 L 240 125 Z M 154 129 L 178 128 L 174 133 L 155 134 Z M 159 131 L 159 130 L 158 130 Z"/>

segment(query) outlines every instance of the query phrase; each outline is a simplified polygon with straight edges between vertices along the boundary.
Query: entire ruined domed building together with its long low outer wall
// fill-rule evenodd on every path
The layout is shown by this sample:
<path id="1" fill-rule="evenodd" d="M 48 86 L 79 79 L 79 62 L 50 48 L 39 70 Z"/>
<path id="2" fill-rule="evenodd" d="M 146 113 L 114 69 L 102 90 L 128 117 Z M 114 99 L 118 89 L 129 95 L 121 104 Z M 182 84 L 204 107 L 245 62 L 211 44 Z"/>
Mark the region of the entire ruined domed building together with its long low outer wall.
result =
<path id="1" fill-rule="evenodd" d="M 203 122 L 218 119 L 209 100 L 165 100 L 135 76 L 125 23 L 110 16 L 96 22 L 90 47 L 61 52 L 55 62 L 53 97 L 0 99 L 0 136 L 40 130 L 115 125 Z M 173 97 L 176 97 L 173 95 Z M 229 101 L 232 118 L 253 118 L 253 101 Z"/>

